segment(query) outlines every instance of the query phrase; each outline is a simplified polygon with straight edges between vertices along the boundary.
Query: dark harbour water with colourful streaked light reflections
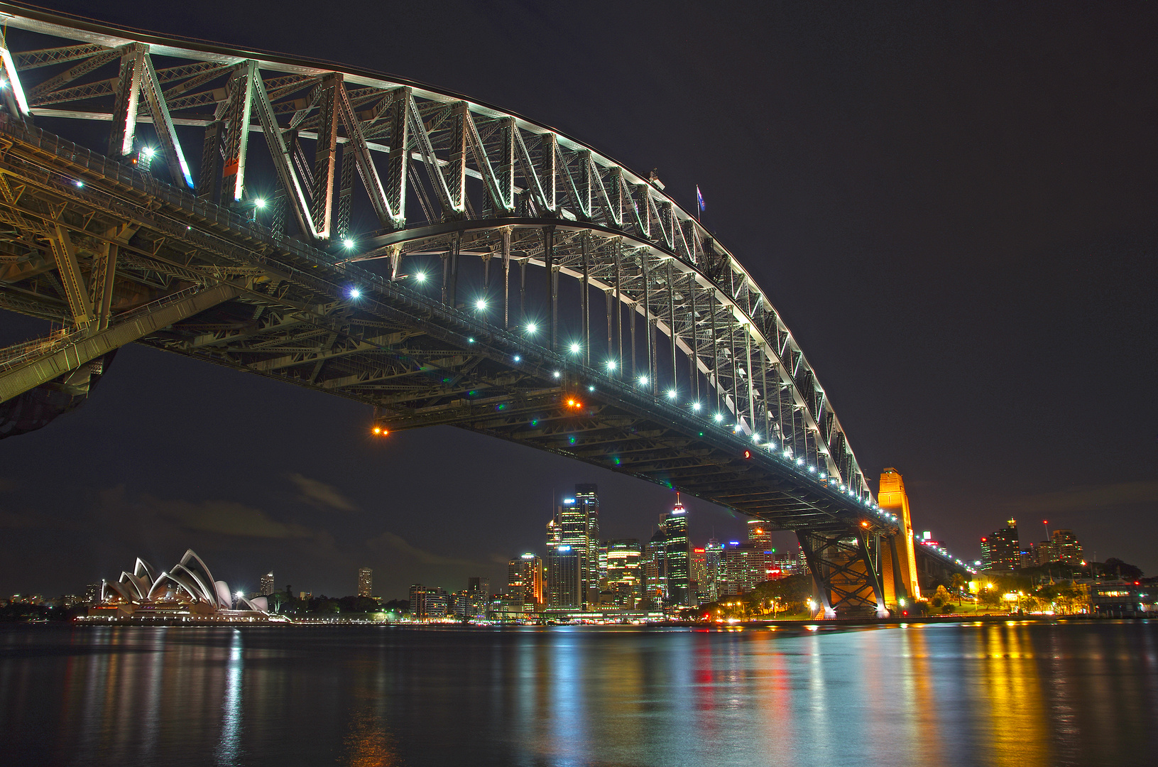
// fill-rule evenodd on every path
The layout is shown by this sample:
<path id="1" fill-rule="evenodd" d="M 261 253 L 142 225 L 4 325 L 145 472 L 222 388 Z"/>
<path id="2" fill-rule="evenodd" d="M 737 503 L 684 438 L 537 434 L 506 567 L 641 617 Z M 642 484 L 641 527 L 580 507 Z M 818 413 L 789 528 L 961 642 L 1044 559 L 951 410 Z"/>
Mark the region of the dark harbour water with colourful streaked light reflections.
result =
<path id="1" fill-rule="evenodd" d="M 1158 624 L 0 629 L 0 764 L 1158 764 Z"/>

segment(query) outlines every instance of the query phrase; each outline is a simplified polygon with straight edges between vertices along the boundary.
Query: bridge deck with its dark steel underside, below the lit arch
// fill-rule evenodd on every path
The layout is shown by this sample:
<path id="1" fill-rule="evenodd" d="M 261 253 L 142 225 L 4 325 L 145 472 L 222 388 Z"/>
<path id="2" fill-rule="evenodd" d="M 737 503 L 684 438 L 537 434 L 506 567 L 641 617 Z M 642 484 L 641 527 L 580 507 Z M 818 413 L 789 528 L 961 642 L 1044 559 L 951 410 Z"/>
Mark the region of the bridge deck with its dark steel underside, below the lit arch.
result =
<path id="1" fill-rule="evenodd" d="M 895 528 L 687 408 L 37 129 L 0 124 L 0 307 L 74 328 L 0 360 L 0 401 L 135 341 L 365 402 L 390 431 L 455 425 L 761 518 L 845 576 L 863 562 L 848 599 L 880 607 L 865 542 Z"/>

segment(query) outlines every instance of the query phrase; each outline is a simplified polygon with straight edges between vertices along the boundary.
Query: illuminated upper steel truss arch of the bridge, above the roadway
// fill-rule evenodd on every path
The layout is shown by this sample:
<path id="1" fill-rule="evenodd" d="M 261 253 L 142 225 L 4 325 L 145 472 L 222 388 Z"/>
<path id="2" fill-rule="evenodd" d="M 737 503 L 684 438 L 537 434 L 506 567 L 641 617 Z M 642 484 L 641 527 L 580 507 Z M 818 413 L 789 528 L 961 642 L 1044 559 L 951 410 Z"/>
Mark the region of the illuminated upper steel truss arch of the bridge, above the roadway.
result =
<path id="1" fill-rule="evenodd" d="M 334 173 L 350 161 L 388 231 L 481 218 L 554 218 L 622 232 L 674 258 L 672 265 L 647 263 L 659 256 L 643 258 L 640 269 L 655 266 L 643 282 L 653 284 L 644 285 L 645 299 L 630 300 L 660 333 L 675 326 L 667 335 L 669 341 L 679 336 L 681 349 L 691 337 L 691 321 L 676 313 L 708 320 L 695 343 L 696 356 L 711 370 L 713 406 L 743 422 L 746 432 L 783 440 L 793 456 L 838 477 L 853 495 L 871 497 L 824 390 L 765 292 L 651 180 L 548 126 L 415 83 L 310 61 L 254 58 L 5 3 L 0 20 L 16 30 L 10 39 L 24 31 L 13 60 L 16 70 L 27 70 L 32 115 L 112 120 L 113 143 L 126 155 L 142 144 L 137 125 L 152 122 L 174 180 L 189 184 L 174 126 L 204 126 L 211 140 L 203 166 L 221 153 L 227 182 L 220 183 L 221 173 L 211 174 L 210 199 L 221 191 L 234 202 L 251 199 L 244 171 L 252 148 L 245 137 L 262 132 L 284 189 L 278 200 L 307 241 L 325 242 L 337 229 Z M 37 46 L 42 42 L 49 44 Z M 147 109 L 132 108 L 138 94 L 146 96 Z M 218 144 L 219 134 L 227 140 Z M 316 144 L 313 163 L 301 140 Z M 351 148 L 340 159 L 339 146 Z M 425 180 L 411 171 L 415 165 Z M 352 177 L 349 169 L 342 174 Z M 423 203 L 422 214 L 408 210 L 411 198 Z M 698 299 L 695 307 L 686 305 L 690 300 L 675 305 L 680 287 L 666 288 L 669 269 L 676 282 L 694 283 L 688 292 L 698 293 L 689 297 Z M 642 273 L 625 276 L 632 277 Z"/>

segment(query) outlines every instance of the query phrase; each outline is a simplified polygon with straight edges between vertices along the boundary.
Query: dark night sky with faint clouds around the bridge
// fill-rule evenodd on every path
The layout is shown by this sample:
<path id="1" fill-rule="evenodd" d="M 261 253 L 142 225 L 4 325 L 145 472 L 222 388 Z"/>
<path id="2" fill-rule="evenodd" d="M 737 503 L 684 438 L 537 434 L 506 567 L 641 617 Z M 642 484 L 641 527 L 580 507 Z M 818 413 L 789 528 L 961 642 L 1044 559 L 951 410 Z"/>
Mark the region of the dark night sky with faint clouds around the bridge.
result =
<path id="1" fill-rule="evenodd" d="M 918 531 L 973 560 L 1009 517 L 1023 541 L 1048 519 L 1158 572 L 1153 3 L 298 5 L 98 19 L 460 92 L 658 168 L 689 210 L 698 184 L 873 488 L 904 475 Z M 577 482 L 599 483 L 607 536 L 648 538 L 674 502 L 449 428 L 371 441 L 368 417 L 125 348 L 81 409 L 0 443 L 0 594 L 78 593 L 189 547 L 245 590 L 272 569 L 353 593 L 358 567 L 388 599 L 499 586 Z M 686 501 L 695 543 L 742 534 Z"/>

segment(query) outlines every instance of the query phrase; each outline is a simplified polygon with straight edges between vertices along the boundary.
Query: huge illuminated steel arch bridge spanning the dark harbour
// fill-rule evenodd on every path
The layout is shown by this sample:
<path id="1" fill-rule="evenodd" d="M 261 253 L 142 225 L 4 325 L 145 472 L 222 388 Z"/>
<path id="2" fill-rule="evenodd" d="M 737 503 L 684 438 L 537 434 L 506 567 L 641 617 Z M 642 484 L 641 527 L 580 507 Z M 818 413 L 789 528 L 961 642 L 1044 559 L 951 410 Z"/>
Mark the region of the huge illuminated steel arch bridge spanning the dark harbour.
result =
<path id="1" fill-rule="evenodd" d="M 827 615 L 911 593 L 768 294 L 654 174 L 371 72 L 0 22 L 0 307 L 60 327 L 2 350 L 9 415 L 82 399 L 137 342 L 794 531 Z"/>

